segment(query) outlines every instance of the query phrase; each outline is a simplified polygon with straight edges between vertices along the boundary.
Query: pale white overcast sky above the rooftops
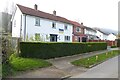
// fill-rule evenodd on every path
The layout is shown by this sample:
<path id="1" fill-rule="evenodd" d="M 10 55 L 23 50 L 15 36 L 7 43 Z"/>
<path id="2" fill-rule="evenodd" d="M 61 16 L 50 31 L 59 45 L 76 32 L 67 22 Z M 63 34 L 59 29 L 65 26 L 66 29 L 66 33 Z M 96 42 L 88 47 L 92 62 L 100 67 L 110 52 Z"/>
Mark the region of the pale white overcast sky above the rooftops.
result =
<path id="1" fill-rule="evenodd" d="M 69 20 L 83 22 L 88 27 L 118 30 L 118 2 L 120 0 L 0 0 L 0 10 L 12 2 L 34 8 L 47 13 L 56 10 L 57 16 Z M 9 9 L 10 10 L 10 9 Z"/>

